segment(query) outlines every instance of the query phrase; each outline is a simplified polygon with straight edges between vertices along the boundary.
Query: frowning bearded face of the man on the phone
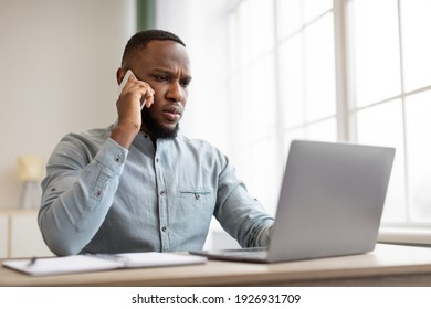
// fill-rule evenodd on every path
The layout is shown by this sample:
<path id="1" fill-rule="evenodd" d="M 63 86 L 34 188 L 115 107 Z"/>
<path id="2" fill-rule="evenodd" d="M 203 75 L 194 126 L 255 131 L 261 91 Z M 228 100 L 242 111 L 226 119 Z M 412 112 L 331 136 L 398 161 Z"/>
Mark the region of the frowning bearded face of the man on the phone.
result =
<path id="1" fill-rule="evenodd" d="M 151 138 L 177 135 L 191 82 L 186 47 L 170 40 L 155 40 L 133 56 L 132 71 L 155 90 L 154 104 L 141 111 L 141 130 Z"/>

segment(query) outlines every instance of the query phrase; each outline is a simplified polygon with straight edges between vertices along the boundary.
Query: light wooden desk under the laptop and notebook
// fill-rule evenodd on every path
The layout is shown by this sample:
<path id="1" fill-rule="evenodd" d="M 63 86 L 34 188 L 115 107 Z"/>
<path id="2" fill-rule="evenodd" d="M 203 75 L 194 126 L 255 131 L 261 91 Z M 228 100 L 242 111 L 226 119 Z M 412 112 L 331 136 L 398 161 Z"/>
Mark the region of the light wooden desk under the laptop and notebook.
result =
<path id="1" fill-rule="evenodd" d="M 204 265 L 31 277 L 0 268 L 0 286 L 431 286 L 431 248 L 378 244 L 372 253 L 272 265 Z"/>

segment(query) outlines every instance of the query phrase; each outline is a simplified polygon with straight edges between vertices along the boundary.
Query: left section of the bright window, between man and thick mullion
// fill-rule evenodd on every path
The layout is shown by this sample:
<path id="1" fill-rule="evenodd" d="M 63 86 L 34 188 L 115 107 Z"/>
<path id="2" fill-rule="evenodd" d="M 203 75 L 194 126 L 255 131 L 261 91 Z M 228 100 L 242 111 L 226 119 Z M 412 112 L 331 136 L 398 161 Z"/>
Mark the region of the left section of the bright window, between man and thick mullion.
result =
<path id="1" fill-rule="evenodd" d="M 330 0 L 246 0 L 230 15 L 235 164 L 273 213 L 290 141 L 337 139 L 333 20 Z"/>

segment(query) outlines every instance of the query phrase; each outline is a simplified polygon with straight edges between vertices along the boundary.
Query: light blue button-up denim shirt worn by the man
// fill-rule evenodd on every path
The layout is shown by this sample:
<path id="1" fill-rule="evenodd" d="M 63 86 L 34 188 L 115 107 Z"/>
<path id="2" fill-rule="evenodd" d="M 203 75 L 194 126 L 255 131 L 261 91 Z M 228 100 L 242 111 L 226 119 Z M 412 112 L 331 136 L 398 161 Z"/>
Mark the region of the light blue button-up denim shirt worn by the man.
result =
<path id="1" fill-rule="evenodd" d="M 125 149 L 113 128 L 70 134 L 49 159 L 38 221 L 53 253 L 201 249 L 213 215 L 241 246 L 267 245 L 273 219 L 217 148 L 139 132 Z"/>

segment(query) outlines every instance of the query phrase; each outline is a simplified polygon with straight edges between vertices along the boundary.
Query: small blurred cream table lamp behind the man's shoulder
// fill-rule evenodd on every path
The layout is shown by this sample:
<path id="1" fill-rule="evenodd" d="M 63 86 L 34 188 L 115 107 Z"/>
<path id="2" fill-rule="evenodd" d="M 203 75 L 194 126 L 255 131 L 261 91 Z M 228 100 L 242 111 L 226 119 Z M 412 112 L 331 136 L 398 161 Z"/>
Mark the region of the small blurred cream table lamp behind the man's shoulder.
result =
<path id="1" fill-rule="evenodd" d="M 44 175 L 43 159 L 38 156 L 20 156 L 17 162 L 18 178 L 23 182 L 21 209 L 36 209 L 41 201 L 40 181 Z"/>

